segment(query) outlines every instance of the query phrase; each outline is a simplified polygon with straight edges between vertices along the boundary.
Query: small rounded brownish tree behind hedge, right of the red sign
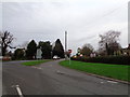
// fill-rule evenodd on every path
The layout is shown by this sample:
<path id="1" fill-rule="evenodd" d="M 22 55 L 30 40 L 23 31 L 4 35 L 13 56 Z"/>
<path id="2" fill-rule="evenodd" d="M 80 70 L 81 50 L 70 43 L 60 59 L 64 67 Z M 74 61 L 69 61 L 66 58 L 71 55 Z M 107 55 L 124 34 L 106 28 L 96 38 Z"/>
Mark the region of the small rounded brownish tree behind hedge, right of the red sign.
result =
<path id="1" fill-rule="evenodd" d="M 86 56 L 90 56 L 93 52 L 93 46 L 91 44 L 84 44 L 81 48 L 81 54 Z"/>

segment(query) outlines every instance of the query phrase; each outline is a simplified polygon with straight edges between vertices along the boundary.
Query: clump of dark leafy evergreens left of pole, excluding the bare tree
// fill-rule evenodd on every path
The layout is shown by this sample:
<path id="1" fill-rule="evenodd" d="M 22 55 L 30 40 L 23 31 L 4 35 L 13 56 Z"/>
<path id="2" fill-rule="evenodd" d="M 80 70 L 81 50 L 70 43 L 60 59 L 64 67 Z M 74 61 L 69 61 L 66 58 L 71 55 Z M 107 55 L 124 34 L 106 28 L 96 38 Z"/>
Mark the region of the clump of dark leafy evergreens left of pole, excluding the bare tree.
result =
<path id="1" fill-rule="evenodd" d="M 15 50 L 14 58 L 15 59 L 22 59 L 22 58 L 34 59 L 34 58 L 36 58 L 37 48 L 41 48 L 42 58 L 50 59 L 54 55 L 57 55 L 58 57 L 64 58 L 64 48 L 63 48 L 63 45 L 62 45 L 60 39 L 57 39 L 55 41 L 54 48 L 52 48 L 50 41 L 46 41 L 46 42 L 40 41 L 37 45 L 35 40 L 31 40 L 28 43 L 27 48 L 16 48 Z"/>

